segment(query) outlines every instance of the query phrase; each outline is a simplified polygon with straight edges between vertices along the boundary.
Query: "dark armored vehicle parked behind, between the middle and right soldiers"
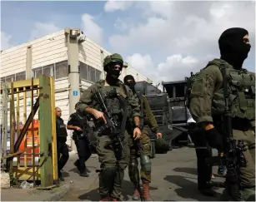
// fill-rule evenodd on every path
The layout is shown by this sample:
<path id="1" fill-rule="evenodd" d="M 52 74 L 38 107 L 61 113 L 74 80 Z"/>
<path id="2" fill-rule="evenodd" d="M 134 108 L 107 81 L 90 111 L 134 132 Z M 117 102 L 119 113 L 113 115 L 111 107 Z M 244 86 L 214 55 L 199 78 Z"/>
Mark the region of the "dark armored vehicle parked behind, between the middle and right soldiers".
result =
<path id="1" fill-rule="evenodd" d="M 136 91 L 147 97 L 163 139 L 173 145 L 187 145 L 190 142 L 187 132 L 188 120 L 191 118 L 185 107 L 186 81 L 162 82 L 163 91 L 146 81 L 136 83 Z M 152 134 L 151 138 L 154 138 Z"/>

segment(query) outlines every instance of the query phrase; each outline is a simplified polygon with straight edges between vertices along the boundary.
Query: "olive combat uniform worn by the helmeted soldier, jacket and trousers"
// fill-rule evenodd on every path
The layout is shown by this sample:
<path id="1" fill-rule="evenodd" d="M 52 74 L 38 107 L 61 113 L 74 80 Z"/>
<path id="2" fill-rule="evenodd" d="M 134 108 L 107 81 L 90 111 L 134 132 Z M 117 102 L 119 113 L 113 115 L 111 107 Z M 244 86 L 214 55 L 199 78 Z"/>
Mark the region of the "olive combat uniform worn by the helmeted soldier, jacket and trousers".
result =
<path id="1" fill-rule="evenodd" d="M 121 60 L 122 62 L 122 57 L 117 55 L 118 54 L 113 54 L 110 58 L 115 59 L 115 57 L 118 57 L 121 58 L 119 61 Z M 127 86 L 124 86 L 122 81 L 118 80 L 115 85 L 111 86 L 105 86 L 104 83 L 105 81 L 101 80 L 88 87 L 80 97 L 80 100 L 76 105 L 76 110 L 83 112 L 87 107 L 90 107 L 100 111 L 99 103 L 94 97 L 95 92 L 100 91 L 102 95 L 107 95 L 109 91 L 112 91 L 113 88 L 115 88 L 117 95 L 111 97 L 106 96 L 105 104 L 108 109 L 111 109 L 112 116 L 116 117 L 118 126 L 121 128 L 121 122 L 123 119 L 123 109 L 121 109 L 118 96 L 123 96 L 127 99 L 130 109 L 129 113 L 132 117 L 140 115 L 138 101 L 134 98 L 133 92 Z M 128 166 L 128 160 L 130 158 L 128 149 L 128 133 L 125 131 L 122 137 L 124 151 L 122 152 L 121 160 L 117 160 L 116 158 L 113 134 L 111 134 L 111 132 L 105 130 L 100 134 L 97 132 L 94 134 L 97 137 L 96 150 L 98 153 L 98 160 L 101 164 L 101 171 L 99 173 L 99 194 L 101 200 L 108 200 L 108 197 L 111 197 L 112 200 L 119 200 L 122 194 L 124 170 Z"/>

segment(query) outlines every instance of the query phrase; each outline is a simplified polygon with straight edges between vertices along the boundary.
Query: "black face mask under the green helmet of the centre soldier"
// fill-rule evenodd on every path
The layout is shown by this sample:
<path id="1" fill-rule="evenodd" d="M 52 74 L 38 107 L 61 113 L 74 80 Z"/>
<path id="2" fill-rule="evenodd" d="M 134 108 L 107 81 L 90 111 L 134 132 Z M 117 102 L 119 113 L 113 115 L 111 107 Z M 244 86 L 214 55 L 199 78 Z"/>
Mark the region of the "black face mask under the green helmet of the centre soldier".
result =
<path id="1" fill-rule="evenodd" d="M 121 68 L 118 68 L 118 70 L 116 70 L 115 69 L 116 65 L 119 65 Z M 123 68 L 123 63 L 122 62 L 111 62 L 108 65 L 106 80 L 107 80 L 109 85 L 114 85 L 118 82 L 118 77 L 121 74 L 122 68 Z"/>

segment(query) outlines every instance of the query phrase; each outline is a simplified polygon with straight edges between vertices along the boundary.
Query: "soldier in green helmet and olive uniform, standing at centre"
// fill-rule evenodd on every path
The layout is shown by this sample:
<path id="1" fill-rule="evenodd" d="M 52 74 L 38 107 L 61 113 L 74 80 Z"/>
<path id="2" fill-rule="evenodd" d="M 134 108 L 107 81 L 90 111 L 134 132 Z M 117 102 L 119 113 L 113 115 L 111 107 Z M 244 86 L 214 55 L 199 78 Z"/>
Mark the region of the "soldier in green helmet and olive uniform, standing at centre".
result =
<path id="1" fill-rule="evenodd" d="M 88 114 L 93 115 L 96 120 L 101 119 L 107 123 L 103 112 L 99 111 L 99 103 L 94 96 L 96 91 L 100 91 L 103 95 L 106 106 L 111 111 L 112 116 L 116 118 L 118 127 L 121 128 L 124 115 L 123 109 L 121 109 L 120 96 L 123 96 L 131 110 L 129 113 L 133 117 L 134 123 L 133 138 L 136 140 L 141 135 L 141 131 L 139 129 L 140 109 L 138 101 L 136 101 L 133 96 L 133 92 L 128 88 L 128 86 L 125 86 L 123 82 L 118 79 L 123 68 L 123 58 L 117 53 L 108 56 L 104 59 L 103 67 L 104 71 L 107 72 L 106 80 L 98 81 L 88 87 L 80 97 L 80 100 L 76 105 L 76 110 L 80 112 L 85 111 Z M 111 94 L 112 96 L 108 96 L 108 92 L 113 91 L 114 88 L 117 93 L 114 95 Z M 123 140 L 121 160 L 117 160 L 116 158 L 116 153 L 114 152 L 115 139 L 113 139 L 113 134 L 108 131 L 108 129 L 100 133 L 96 130 L 95 135 L 97 137 L 96 150 L 101 164 L 101 170 L 99 173 L 100 200 L 118 201 L 122 193 L 121 187 L 123 183 L 124 170 L 128 166 L 129 160 L 128 133 L 125 131 L 124 135 L 121 136 L 121 139 Z"/>

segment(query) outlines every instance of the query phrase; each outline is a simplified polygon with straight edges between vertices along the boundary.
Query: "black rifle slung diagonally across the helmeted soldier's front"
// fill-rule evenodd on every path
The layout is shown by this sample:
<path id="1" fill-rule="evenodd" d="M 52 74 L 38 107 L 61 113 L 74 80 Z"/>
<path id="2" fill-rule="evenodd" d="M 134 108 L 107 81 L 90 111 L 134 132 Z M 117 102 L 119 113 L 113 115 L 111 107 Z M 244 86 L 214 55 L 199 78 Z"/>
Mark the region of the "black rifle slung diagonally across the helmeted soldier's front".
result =
<path id="1" fill-rule="evenodd" d="M 103 126 L 98 127 L 98 132 L 101 133 L 102 131 L 104 131 L 106 129 L 110 129 L 111 133 L 114 134 L 114 138 L 116 140 L 118 140 L 118 146 L 123 150 L 123 142 L 122 142 L 121 137 L 120 137 L 120 135 L 121 135 L 120 133 L 122 132 L 122 130 L 118 130 L 118 122 L 111 115 L 111 111 L 109 111 L 108 107 L 105 105 L 105 102 L 103 101 L 102 94 L 99 91 L 97 91 L 95 93 L 95 96 L 96 96 L 96 99 L 98 100 L 98 104 L 100 105 L 100 107 L 101 107 L 101 109 L 104 113 L 104 117 L 107 121 L 106 124 L 104 124 Z M 125 152 L 125 150 L 123 150 L 123 152 Z"/>

